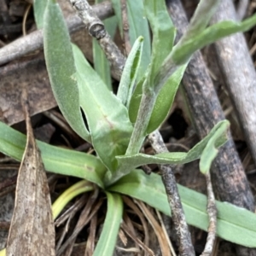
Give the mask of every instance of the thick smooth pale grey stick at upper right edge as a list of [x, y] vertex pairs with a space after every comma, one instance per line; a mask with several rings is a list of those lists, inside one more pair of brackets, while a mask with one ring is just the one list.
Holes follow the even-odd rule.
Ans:
[[[220, 3], [212, 23], [222, 20], [237, 20], [231, 0]], [[236, 33], [216, 42], [213, 49], [256, 164], [256, 72], [247, 42], [242, 33]]]

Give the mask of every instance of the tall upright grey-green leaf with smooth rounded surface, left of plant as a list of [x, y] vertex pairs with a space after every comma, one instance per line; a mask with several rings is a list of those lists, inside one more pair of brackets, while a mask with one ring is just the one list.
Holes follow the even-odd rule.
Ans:
[[44, 55], [49, 81], [61, 113], [79, 136], [90, 142], [79, 104], [79, 88], [72, 78], [76, 72], [73, 50], [61, 9], [49, 0], [44, 14]]

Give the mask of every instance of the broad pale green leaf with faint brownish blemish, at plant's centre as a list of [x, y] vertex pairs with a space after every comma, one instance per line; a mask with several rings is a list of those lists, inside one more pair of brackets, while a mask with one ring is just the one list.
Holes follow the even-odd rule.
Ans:
[[80, 104], [88, 121], [92, 144], [111, 172], [117, 168], [115, 156], [125, 154], [132, 125], [128, 111], [90, 67], [78, 47], [73, 46], [79, 83]]

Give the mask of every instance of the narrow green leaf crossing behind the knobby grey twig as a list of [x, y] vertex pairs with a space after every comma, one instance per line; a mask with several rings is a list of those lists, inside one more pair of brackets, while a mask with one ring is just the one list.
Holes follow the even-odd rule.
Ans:
[[[102, 3], [102, 0], [96, 0], [95, 3]], [[103, 23], [110, 37], [113, 38], [117, 28], [116, 16], [113, 16], [104, 20]], [[92, 39], [92, 49], [93, 49], [94, 69], [96, 70], [96, 73], [99, 74], [102, 81], [108, 86], [108, 89], [112, 90], [110, 66], [109, 66], [107, 57], [103, 52], [102, 48], [99, 46], [96, 38]]]

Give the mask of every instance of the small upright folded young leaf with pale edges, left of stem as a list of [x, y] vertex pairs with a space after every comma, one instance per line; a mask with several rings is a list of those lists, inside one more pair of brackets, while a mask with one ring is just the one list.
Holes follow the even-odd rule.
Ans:
[[125, 62], [125, 68], [119, 83], [117, 96], [128, 108], [131, 101], [131, 94], [134, 90], [137, 79], [138, 68], [141, 63], [143, 50], [143, 38], [139, 37], [132, 46], [131, 52]]

